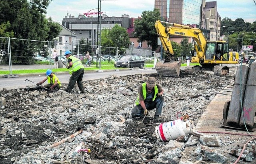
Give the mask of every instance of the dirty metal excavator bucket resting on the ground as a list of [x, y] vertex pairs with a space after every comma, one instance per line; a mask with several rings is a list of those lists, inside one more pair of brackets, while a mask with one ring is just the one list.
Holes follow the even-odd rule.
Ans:
[[156, 63], [156, 71], [161, 76], [180, 76], [181, 61], [160, 61]]

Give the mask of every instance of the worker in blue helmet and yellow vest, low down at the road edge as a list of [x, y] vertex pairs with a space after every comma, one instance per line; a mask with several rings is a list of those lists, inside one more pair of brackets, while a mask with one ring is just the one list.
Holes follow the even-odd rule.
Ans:
[[36, 85], [42, 85], [46, 80], [48, 80], [48, 84], [44, 85], [47, 89], [50, 89], [51, 91], [56, 90], [58, 91], [60, 89], [60, 81], [58, 77], [52, 73], [52, 70], [48, 69], [46, 71], [46, 78], [37, 83]]

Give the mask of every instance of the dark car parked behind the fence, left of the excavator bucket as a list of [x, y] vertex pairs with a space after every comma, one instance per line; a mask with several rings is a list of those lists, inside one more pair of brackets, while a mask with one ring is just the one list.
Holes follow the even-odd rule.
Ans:
[[126, 55], [123, 56], [121, 59], [115, 62], [114, 66], [115, 67], [125, 67], [125, 68], [134, 68], [134, 67], [139, 67], [143, 68], [145, 65], [145, 60], [143, 59], [142, 56], [139, 55]]

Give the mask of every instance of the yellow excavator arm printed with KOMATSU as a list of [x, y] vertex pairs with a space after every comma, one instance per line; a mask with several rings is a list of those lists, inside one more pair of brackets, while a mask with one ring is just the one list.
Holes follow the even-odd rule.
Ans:
[[[170, 26], [165, 27], [162, 23], [168, 24]], [[206, 38], [204, 37], [202, 31], [198, 28], [192, 28], [190, 26], [184, 26], [180, 24], [174, 24], [169, 22], [163, 22], [157, 20], [155, 23], [156, 32], [159, 39], [162, 42], [162, 46], [168, 55], [168, 59], [174, 59], [174, 51], [172, 49], [172, 44], [170, 36], [182, 36], [190, 37], [196, 41], [197, 45], [200, 47], [201, 51], [199, 52], [197, 47], [196, 52], [200, 60], [204, 59], [204, 52], [206, 51]]]

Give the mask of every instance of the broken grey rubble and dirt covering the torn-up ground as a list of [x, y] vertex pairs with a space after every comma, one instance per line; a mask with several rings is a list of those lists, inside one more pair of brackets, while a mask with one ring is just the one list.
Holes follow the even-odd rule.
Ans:
[[[130, 113], [138, 86], [150, 76], [164, 89], [162, 120], [154, 120], [153, 110], [142, 123]], [[4, 89], [0, 91], [0, 163], [227, 163], [229, 158], [211, 148], [234, 141], [196, 132], [162, 142], [155, 127], [176, 120], [178, 111], [186, 112], [196, 124], [214, 96], [233, 82], [234, 77], [181, 71], [179, 78], [136, 74], [84, 81], [86, 93], [78, 87], [72, 93]], [[180, 161], [184, 148], [191, 145], [198, 145], [191, 153], [194, 158]]]

